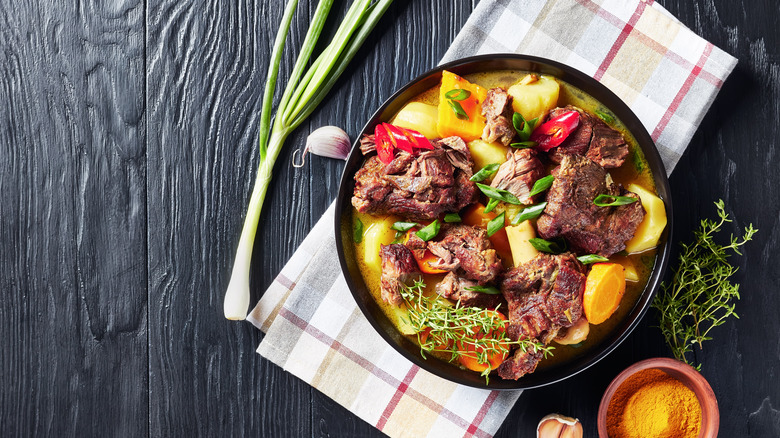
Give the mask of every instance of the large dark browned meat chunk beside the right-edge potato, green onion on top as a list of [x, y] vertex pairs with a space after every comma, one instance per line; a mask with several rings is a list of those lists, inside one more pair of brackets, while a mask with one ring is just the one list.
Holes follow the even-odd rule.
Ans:
[[563, 236], [581, 254], [609, 257], [626, 248], [645, 216], [642, 202], [619, 207], [593, 204], [598, 195], [638, 196], [612, 182], [604, 168], [579, 155], [567, 155], [553, 173], [547, 207], [536, 223], [545, 239]]

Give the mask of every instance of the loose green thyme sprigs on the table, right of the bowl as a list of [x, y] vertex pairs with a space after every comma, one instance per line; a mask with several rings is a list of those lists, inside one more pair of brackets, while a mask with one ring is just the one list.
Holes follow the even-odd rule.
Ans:
[[693, 345], [701, 349], [704, 341], [712, 339], [710, 330], [723, 324], [729, 316], [739, 318], [733, 302], [739, 299], [739, 284], [729, 281], [737, 268], [729, 264], [728, 258], [730, 252], [742, 255], [739, 248], [758, 231], [750, 224], [741, 240], [732, 234], [728, 245], [716, 243], [715, 235], [723, 224], [732, 220], [723, 200], [715, 206], [719, 220], [702, 220], [694, 233], [695, 241], [681, 244], [680, 263], [672, 282], [664, 282], [662, 293], [653, 301], [653, 307], [660, 313], [659, 328], [674, 357], [688, 364], [685, 355], [693, 351]]

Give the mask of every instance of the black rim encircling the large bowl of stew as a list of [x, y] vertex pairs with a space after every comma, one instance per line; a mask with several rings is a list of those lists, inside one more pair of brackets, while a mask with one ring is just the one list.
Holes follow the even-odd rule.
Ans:
[[[531, 66], [531, 68], [521, 69], [515, 64], [518, 65], [527, 64]], [[499, 68], [499, 67], [504, 67], [504, 68]], [[658, 251], [655, 259], [655, 264], [653, 266], [647, 284], [642, 290], [639, 299], [634, 304], [633, 308], [629, 311], [628, 315], [625, 317], [625, 323], [623, 323], [622, 326], [618, 326], [618, 328], [614, 330], [615, 332], [619, 332], [619, 333], [612, 333], [611, 335], [606, 336], [604, 339], [601, 340], [602, 345], [594, 347], [588, 353], [575, 359], [571, 363], [563, 364], [561, 366], [556, 366], [553, 369], [545, 370], [543, 373], [539, 373], [539, 374], [532, 373], [518, 380], [504, 380], [500, 378], [490, 379], [490, 382], [486, 385], [484, 378], [480, 377], [478, 373], [461, 370], [452, 364], [447, 364], [447, 367], [450, 368], [452, 371], [440, 372], [440, 367], [432, 365], [432, 362], [438, 361], [437, 359], [430, 359], [430, 360], [423, 359], [420, 356], [419, 347], [416, 353], [412, 353], [411, 351], [402, 348], [400, 342], [403, 341], [398, 341], [394, 339], [390, 333], [388, 333], [381, 327], [380, 322], [373, 316], [375, 312], [372, 312], [372, 310], [375, 309], [370, 308], [370, 306], [372, 305], [378, 306], [378, 304], [373, 302], [373, 298], [371, 298], [371, 303], [367, 302], [367, 300], [365, 299], [362, 299], [363, 297], [361, 297], [361, 295], [358, 292], [358, 287], [355, 283], [355, 280], [350, 275], [350, 267], [347, 262], [347, 258], [345, 254], [344, 240], [346, 239], [346, 235], [343, 232], [344, 223], [342, 222], [342, 217], [345, 210], [352, 207], [351, 196], [354, 187], [353, 176], [354, 173], [357, 171], [357, 168], [359, 168], [359, 165], [357, 168], [355, 168], [356, 165], [355, 163], [358, 161], [362, 163], [363, 160], [359, 148], [360, 138], [366, 132], [369, 132], [369, 129], [373, 129], [373, 127], [379, 121], [388, 120], [389, 116], [394, 114], [398, 109], [400, 109], [400, 105], [405, 104], [406, 101], [412, 96], [407, 96], [406, 99], [404, 100], [400, 100], [399, 98], [409, 93], [409, 91], [414, 89], [415, 86], [424, 84], [426, 80], [430, 81], [432, 78], [434, 79], [439, 78], [443, 70], [452, 71], [456, 74], [461, 74], [461, 73], [470, 74], [479, 71], [491, 71], [491, 70], [502, 70], [502, 69], [538, 71], [540, 73], [552, 74], [556, 78], [562, 79], [565, 82], [568, 82], [582, 89], [589, 95], [596, 98], [596, 100], [598, 100], [605, 107], [607, 107], [613, 114], [618, 116], [619, 120], [629, 129], [631, 134], [636, 139], [637, 144], [642, 149], [642, 152], [645, 156], [645, 160], [647, 161], [648, 166], [650, 167], [651, 173], [653, 175], [653, 180], [656, 184], [656, 192], [658, 193], [659, 197], [663, 200], [666, 207], [667, 226], [662, 235], [662, 239], [664, 239], [664, 243], [663, 245], [657, 248]], [[413, 95], [416, 94], [418, 93], [415, 92]], [[647, 132], [645, 127], [642, 125], [642, 123], [639, 121], [639, 118], [636, 116], [636, 114], [634, 114], [634, 112], [628, 107], [628, 105], [626, 105], [619, 97], [617, 97], [617, 95], [615, 95], [612, 91], [610, 91], [605, 85], [596, 81], [591, 76], [571, 66], [567, 66], [557, 61], [553, 61], [550, 59], [541, 58], [537, 56], [520, 55], [514, 53], [503, 53], [503, 54], [477, 55], [472, 57], [461, 58], [445, 64], [440, 64], [422, 73], [421, 75], [418, 75], [417, 77], [415, 77], [414, 79], [406, 83], [404, 86], [396, 90], [390, 97], [388, 97], [382, 103], [382, 105], [379, 106], [379, 108], [368, 119], [368, 121], [363, 126], [360, 133], [358, 134], [358, 136], [355, 138], [355, 141], [352, 145], [352, 150], [349, 156], [347, 157], [346, 161], [347, 163], [342, 172], [342, 176], [339, 183], [339, 191], [336, 198], [334, 225], [335, 225], [336, 248], [339, 257], [339, 264], [341, 266], [342, 273], [344, 274], [347, 286], [349, 287], [350, 292], [352, 296], [355, 298], [355, 301], [357, 302], [358, 307], [360, 307], [360, 310], [363, 313], [363, 315], [366, 317], [366, 319], [368, 319], [371, 326], [374, 328], [374, 330], [376, 330], [379, 333], [379, 335], [384, 339], [385, 342], [390, 344], [397, 352], [399, 352], [406, 359], [410, 360], [413, 364], [443, 379], [449, 380], [454, 383], [463, 384], [463, 385], [467, 385], [475, 388], [481, 388], [481, 389], [496, 389], [496, 390], [531, 389], [531, 388], [537, 388], [537, 387], [560, 382], [562, 380], [570, 378], [590, 368], [591, 366], [601, 361], [604, 357], [609, 355], [609, 353], [611, 353], [613, 350], [615, 350], [615, 348], [617, 348], [637, 327], [637, 325], [642, 320], [642, 318], [647, 313], [647, 310], [650, 307], [650, 303], [652, 302], [652, 299], [654, 298], [660, 286], [663, 274], [666, 271], [666, 267], [669, 262], [669, 253], [671, 250], [671, 242], [672, 242], [672, 224], [673, 224], [671, 192], [669, 188], [668, 176], [666, 174], [663, 161], [661, 160], [661, 157], [658, 153], [658, 149], [655, 146], [652, 137]], [[351, 229], [351, 224], [349, 228]], [[347, 233], [347, 234], [351, 235], [351, 233]], [[370, 295], [370, 293], [368, 295]], [[383, 316], [380, 315], [378, 318], [382, 319]], [[386, 319], [386, 317], [384, 318]], [[394, 334], [396, 336], [399, 336], [397, 331]], [[464, 374], [464, 373], [468, 373], [468, 374]], [[470, 375], [476, 376], [477, 378], [475, 379], [473, 376]], [[542, 376], [544, 378], [540, 378], [539, 376]]]

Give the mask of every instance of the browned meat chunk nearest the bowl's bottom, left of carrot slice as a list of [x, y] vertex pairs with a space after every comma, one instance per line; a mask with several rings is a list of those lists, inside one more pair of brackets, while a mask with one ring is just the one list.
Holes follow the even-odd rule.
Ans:
[[[585, 279], [585, 267], [572, 253], [542, 253], [506, 272], [501, 292], [509, 307], [510, 339], [547, 344], [558, 330], [572, 326], [582, 316]], [[533, 372], [541, 357], [541, 352], [518, 349], [501, 364], [498, 374], [518, 379]]]

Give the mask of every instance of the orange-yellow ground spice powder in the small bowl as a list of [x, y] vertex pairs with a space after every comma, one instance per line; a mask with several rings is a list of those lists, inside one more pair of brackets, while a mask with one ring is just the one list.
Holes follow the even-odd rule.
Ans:
[[607, 408], [610, 438], [696, 438], [700, 429], [696, 395], [658, 369], [626, 379]]

